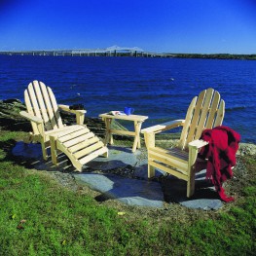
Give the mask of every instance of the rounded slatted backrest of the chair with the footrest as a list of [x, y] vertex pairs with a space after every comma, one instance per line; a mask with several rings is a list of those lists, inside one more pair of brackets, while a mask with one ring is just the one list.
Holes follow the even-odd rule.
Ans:
[[[30, 83], [24, 91], [24, 100], [27, 112], [41, 118], [44, 121], [45, 130], [63, 127], [55, 95], [44, 83], [39, 81]], [[32, 128], [35, 134], [39, 133], [35, 124], [32, 124]]]

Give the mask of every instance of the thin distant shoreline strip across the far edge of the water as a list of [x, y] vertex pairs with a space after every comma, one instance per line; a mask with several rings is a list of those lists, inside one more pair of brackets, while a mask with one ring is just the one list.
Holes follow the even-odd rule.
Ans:
[[256, 60], [255, 55], [232, 55], [232, 54], [155, 54], [146, 52], [73, 52], [73, 51], [2, 51], [0, 55], [53, 55], [53, 56], [129, 56], [129, 57], [170, 57], [170, 58], [204, 58], [204, 59], [246, 59]]

